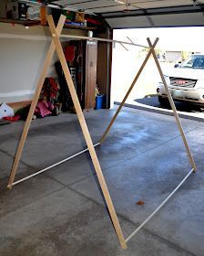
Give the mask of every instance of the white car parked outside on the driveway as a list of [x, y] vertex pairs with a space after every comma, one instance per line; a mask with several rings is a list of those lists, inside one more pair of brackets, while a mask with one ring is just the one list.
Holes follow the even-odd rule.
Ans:
[[[193, 54], [174, 69], [165, 74], [172, 98], [177, 101], [189, 101], [204, 104], [204, 54]], [[158, 101], [168, 104], [168, 96], [163, 82], [158, 83]]]

